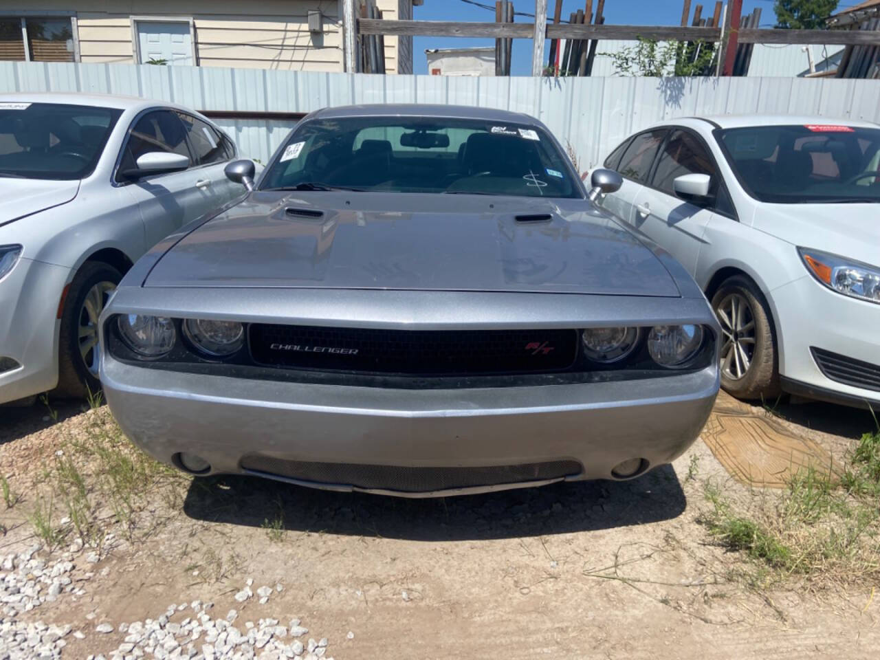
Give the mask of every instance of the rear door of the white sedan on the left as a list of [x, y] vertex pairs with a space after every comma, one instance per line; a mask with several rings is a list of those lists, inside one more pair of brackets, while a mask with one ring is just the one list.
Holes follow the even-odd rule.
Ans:
[[226, 178], [224, 167], [235, 158], [235, 147], [220, 130], [192, 114], [178, 113], [187, 129], [193, 152], [195, 187], [199, 188], [204, 212], [218, 209], [245, 192], [244, 187]]

